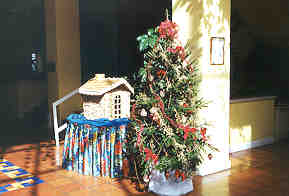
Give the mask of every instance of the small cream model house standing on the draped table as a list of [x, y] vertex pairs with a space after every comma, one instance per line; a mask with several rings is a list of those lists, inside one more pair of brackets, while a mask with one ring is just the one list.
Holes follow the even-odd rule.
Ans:
[[79, 88], [79, 93], [83, 114], [88, 120], [130, 117], [130, 95], [134, 89], [123, 78], [105, 78], [105, 74], [95, 74]]

